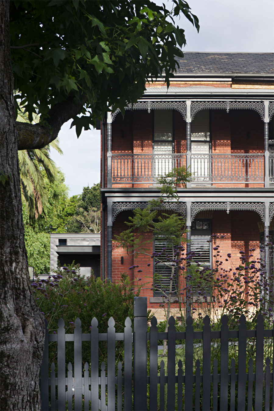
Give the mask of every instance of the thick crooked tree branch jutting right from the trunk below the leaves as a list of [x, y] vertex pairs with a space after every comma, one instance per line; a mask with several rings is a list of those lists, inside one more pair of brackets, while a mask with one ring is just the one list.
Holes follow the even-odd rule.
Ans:
[[18, 150], [43, 148], [58, 136], [62, 125], [75, 117], [86, 102], [82, 94], [78, 100], [70, 96], [62, 103], [57, 103], [48, 112], [47, 124], [28, 124], [16, 121]]

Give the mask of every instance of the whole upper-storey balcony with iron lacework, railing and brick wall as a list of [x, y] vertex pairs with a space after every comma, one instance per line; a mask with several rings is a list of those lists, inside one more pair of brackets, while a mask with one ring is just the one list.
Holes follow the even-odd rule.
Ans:
[[108, 187], [152, 187], [181, 166], [191, 172], [188, 188], [274, 185], [273, 103], [191, 101], [189, 117], [177, 111], [179, 103], [153, 102], [146, 110], [140, 102], [124, 117], [115, 114], [105, 141]]

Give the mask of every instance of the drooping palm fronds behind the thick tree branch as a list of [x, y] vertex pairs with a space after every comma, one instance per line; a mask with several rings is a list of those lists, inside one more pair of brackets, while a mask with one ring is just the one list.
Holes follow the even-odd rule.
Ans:
[[[32, 123], [39, 122], [39, 116], [35, 113], [33, 118]], [[28, 115], [18, 111], [17, 121], [29, 122]], [[44, 148], [18, 151], [21, 193], [30, 219], [37, 218], [48, 201], [42, 170], [45, 170], [49, 182], [54, 182], [57, 174], [55, 162], [50, 157], [51, 148], [63, 154], [58, 139]]]

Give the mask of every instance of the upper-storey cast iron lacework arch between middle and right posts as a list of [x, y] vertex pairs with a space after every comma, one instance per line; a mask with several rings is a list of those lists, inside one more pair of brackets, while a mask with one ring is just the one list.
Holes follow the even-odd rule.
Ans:
[[225, 109], [227, 113], [231, 109], [251, 109], [257, 111], [259, 113], [260, 118], [262, 121], [265, 119], [265, 105], [263, 102], [247, 102], [247, 101], [195, 101], [191, 102], [190, 106], [190, 113], [191, 113], [191, 120], [193, 120], [194, 116], [198, 111], [203, 109]]

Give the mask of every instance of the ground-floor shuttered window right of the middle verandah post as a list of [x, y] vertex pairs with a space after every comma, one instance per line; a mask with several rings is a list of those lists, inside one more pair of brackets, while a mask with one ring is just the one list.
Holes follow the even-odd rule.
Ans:
[[195, 252], [195, 261], [203, 267], [211, 267], [211, 220], [194, 219], [191, 224], [191, 251]]

